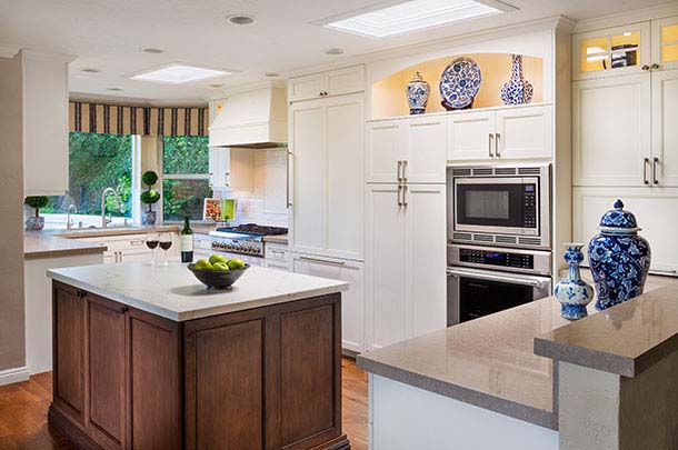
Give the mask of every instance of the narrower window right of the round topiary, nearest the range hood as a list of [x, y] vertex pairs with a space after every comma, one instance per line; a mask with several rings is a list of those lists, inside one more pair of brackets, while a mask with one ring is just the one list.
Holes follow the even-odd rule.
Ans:
[[201, 220], [205, 199], [212, 196], [208, 137], [163, 137], [161, 161], [163, 220]]

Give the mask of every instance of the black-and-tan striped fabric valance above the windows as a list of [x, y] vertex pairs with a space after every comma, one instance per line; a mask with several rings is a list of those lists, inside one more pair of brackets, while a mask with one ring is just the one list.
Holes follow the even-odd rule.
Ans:
[[207, 108], [123, 107], [69, 102], [69, 129], [90, 133], [207, 136]]

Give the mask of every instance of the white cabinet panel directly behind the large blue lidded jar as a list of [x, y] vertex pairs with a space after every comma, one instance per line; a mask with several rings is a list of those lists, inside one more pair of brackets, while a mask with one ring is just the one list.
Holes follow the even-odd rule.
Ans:
[[[598, 233], [598, 222], [617, 199], [634, 211], [639, 232], [650, 243], [651, 270], [678, 274], [678, 188], [575, 188], [572, 234], [576, 242], [588, 242]], [[658, 211], [661, 211], [658, 213]], [[588, 256], [585, 259], [588, 264]]]

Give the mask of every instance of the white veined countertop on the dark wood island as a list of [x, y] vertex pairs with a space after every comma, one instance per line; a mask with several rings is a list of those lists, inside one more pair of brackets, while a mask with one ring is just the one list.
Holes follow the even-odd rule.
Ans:
[[250, 267], [230, 290], [212, 291], [186, 268], [127, 262], [51, 269], [53, 280], [117, 302], [186, 321], [348, 290], [343, 281]]

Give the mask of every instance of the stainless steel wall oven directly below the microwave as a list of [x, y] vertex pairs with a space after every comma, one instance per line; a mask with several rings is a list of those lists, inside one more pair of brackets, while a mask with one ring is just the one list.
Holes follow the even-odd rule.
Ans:
[[550, 296], [550, 251], [448, 246], [448, 327]]

